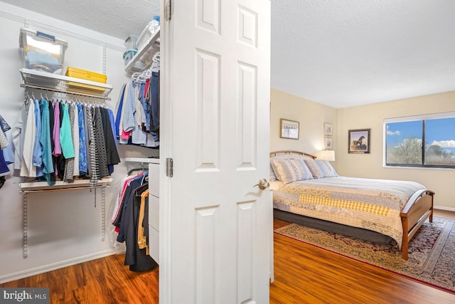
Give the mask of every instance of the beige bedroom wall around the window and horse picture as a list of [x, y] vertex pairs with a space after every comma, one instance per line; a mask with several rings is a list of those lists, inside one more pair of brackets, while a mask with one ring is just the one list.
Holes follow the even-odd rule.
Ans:
[[[436, 192], [435, 206], [455, 210], [455, 170], [385, 168], [383, 163], [383, 121], [385, 118], [455, 111], [455, 91], [393, 100], [338, 110], [336, 146], [337, 172], [348, 177], [407, 179]], [[348, 130], [371, 129], [370, 154], [348, 154]]]

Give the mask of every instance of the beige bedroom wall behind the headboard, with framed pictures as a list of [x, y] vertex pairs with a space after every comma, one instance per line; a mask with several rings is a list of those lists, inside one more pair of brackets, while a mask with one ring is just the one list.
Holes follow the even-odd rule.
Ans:
[[[294, 95], [272, 90], [270, 93], [270, 151], [296, 150], [316, 154], [324, 147], [324, 122], [337, 125], [337, 110], [335, 108], [314, 103]], [[295, 120], [300, 123], [299, 140], [280, 138], [281, 118]], [[334, 133], [333, 135], [336, 135]], [[337, 138], [333, 136], [333, 148], [337, 147]], [[336, 168], [336, 162], [332, 162]]]

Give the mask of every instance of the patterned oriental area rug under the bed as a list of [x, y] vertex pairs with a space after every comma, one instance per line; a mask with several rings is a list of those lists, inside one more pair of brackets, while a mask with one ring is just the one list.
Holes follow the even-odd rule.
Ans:
[[298, 224], [274, 232], [455, 294], [453, 219], [434, 216], [433, 223], [424, 223], [410, 241], [407, 261], [402, 259], [395, 241], [387, 246], [378, 245]]

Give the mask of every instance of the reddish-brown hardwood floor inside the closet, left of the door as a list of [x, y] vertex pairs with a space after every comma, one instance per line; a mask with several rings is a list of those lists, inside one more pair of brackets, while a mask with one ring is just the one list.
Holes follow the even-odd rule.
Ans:
[[123, 254], [107, 256], [0, 287], [49, 288], [50, 303], [158, 304], [159, 268], [134, 273], [123, 263]]

